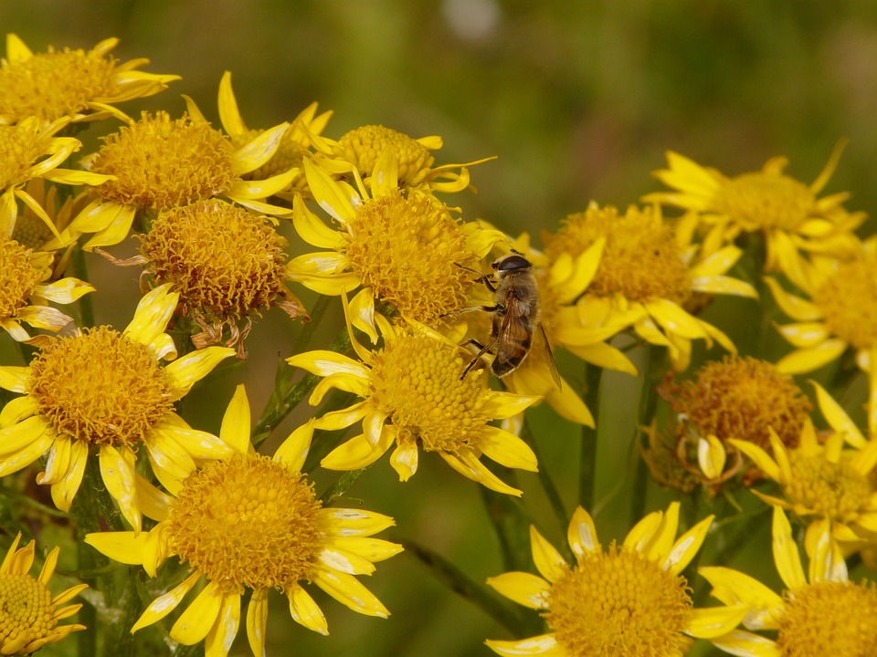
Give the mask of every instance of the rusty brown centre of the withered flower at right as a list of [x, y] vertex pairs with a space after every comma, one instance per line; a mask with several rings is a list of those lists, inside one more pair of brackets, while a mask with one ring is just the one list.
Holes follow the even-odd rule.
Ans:
[[792, 377], [766, 360], [725, 356], [697, 371], [693, 381], [665, 381], [662, 397], [684, 417], [681, 433], [714, 435], [723, 443], [745, 440], [763, 449], [770, 445], [769, 429], [788, 447], [798, 446], [801, 428], [812, 410], [807, 396]]

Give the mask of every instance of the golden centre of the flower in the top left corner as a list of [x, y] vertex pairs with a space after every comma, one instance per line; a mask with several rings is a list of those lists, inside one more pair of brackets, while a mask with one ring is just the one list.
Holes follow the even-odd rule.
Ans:
[[[0, 115], [36, 116], [44, 121], [75, 116], [93, 99], [112, 95], [115, 67], [110, 57], [51, 47], [25, 61], [0, 68]], [[2, 152], [2, 149], [0, 149]]]

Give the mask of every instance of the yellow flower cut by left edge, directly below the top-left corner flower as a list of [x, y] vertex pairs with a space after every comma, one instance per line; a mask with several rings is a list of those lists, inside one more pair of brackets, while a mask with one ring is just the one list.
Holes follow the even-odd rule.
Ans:
[[107, 175], [58, 168], [82, 146], [73, 137], [55, 136], [68, 124], [68, 118], [47, 124], [36, 117], [28, 117], [17, 125], [0, 124], [0, 232], [12, 235], [18, 216], [17, 199], [37, 214], [53, 235], [58, 234], [46, 210], [26, 192], [24, 186], [30, 180], [44, 178], [54, 183], [92, 185], [111, 180]]

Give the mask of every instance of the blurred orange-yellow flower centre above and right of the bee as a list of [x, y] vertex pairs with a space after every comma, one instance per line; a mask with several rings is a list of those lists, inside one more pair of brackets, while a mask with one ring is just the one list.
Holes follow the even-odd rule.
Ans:
[[601, 236], [606, 247], [589, 293], [631, 301], [660, 297], [679, 304], [691, 296], [692, 282], [671, 226], [653, 207], [630, 206], [618, 214], [612, 206], [592, 204], [584, 213], [568, 215], [555, 235], [544, 236], [545, 254], [549, 259], [562, 253], [575, 257]]

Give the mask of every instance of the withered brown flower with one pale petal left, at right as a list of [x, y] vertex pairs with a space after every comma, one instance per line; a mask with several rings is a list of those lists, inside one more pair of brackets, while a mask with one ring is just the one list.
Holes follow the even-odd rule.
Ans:
[[[773, 363], [750, 357], [713, 360], [697, 370], [692, 381], [668, 379], [658, 392], [676, 413], [677, 454], [682, 464], [713, 492], [743, 465], [738, 458], [725, 467], [730, 439], [766, 448], [773, 429], [783, 444], [794, 448], [812, 410], [789, 375]], [[731, 451], [739, 454], [734, 448]], [[693, 454], [696, 465], [689, 460]]]

